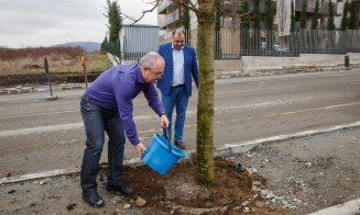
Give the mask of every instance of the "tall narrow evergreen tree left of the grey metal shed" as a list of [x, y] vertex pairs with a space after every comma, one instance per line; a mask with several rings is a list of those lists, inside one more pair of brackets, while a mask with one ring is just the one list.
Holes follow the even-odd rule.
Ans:
[[106, 18], [109, 19], [109, 43], [114, 43], [119, 38], [119, 32], [122, 29], [122, 18], [118, 1], [107, 0]]

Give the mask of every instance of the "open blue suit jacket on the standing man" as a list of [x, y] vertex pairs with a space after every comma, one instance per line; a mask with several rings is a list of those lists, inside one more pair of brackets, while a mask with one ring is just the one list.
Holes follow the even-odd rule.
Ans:
[[[157, 53], [165, 60], [165, 70], [161, 79], [157, 80], [157, 88], [165, 95], [170, 93], [174, 77], [173, 48], [172, 43], [159, 46]], [[196, 53], [192, 46], [184, 45], [184, 82], [186, 86], [188, 97], [192, 95], [192, 76], [194, 78], [196, 88], [198, 88], [198, 69], [196, 61]]]

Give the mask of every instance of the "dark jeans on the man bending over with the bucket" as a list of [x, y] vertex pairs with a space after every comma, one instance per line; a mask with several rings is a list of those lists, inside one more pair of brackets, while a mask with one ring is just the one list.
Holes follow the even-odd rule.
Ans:
[[97, 192], [96, 178], [105, 142], [105, 132], [109, 136], [108, 161], [109, 185], [118, 185], [123, 181], [123, 150], [126, 136], [118, 110], [106, 110], [94, 104], [86, 95], [81, 98], [81, 116], [86, 133], [80, 183], [83, 192]]

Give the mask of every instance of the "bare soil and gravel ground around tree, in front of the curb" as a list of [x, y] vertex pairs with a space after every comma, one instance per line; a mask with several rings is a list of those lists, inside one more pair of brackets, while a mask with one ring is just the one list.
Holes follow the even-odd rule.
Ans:
[[360, 127], [263, 144], [217, 158], [217, 180], [209, 188], [194, 183], [188, 162], [165, 177], [146, 166], [126, 167], [126, 181], [137, 191], [132, 197], [105, 191], [102, 165], [102, 208], [81, 200], [79, 177], [73, 174], [2, 184], [0, 214], [307, 214], [360, 197], [359, 150]]

